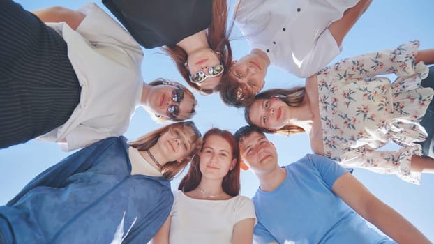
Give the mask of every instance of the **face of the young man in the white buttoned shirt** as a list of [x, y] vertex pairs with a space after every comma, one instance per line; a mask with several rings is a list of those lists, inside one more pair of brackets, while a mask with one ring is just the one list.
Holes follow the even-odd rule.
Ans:
[[230, 78], [246, 84], [250, 93], [258, 93], [264, 88], [267, 75], [267, 63], [257, 54], [247, 54], [239, 61], [234, 61]]

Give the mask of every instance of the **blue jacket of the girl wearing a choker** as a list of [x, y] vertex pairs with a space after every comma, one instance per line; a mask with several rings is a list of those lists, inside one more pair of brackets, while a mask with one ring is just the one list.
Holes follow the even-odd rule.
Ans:
[[81, 244], [110, 243], [121, 227], [123, 243], [147, 243], [172, 208], [170, 182], [130, 171], [124, 137], [83, 148], [1, 206], [9, 228], [3, 223], [0, 231], [14, 243]]

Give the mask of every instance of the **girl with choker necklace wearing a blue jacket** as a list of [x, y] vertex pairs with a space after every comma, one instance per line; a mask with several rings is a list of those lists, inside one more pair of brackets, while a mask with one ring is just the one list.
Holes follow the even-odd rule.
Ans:
[[77, 151], [0, 206], [0, 243], [147, 243], [170, 213], [170, 180], [201, 142], [188, 121]]

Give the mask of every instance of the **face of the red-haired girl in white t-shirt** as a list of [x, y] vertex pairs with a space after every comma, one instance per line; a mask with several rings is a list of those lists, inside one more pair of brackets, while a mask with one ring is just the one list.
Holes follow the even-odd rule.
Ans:
[[202, 177], [223, 178], [234, 169], [237, 162], [232, 155], [232, 147], [219, 135], [210, 135], [200, 152], [200, 171]]

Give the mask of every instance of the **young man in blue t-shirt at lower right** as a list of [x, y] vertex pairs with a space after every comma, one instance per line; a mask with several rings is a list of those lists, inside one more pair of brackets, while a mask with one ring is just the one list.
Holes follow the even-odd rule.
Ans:
[[245, 126], [235, 137], [241, 162], [260, 181], [253, 197], [256, 243], [431, 243], [336, 162], [310, 154], [280, 167], [260, 129]]

